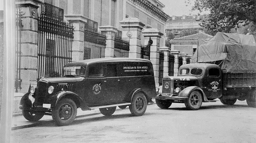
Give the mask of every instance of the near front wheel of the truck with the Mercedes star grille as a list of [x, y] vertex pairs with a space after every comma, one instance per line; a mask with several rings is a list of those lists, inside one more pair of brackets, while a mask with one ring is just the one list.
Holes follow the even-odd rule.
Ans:
[[202, 94], [198, 91], [192, 91], [189, 98], [185, 100], [185, 106], [189, 110], [197, 110], [202, 105]]

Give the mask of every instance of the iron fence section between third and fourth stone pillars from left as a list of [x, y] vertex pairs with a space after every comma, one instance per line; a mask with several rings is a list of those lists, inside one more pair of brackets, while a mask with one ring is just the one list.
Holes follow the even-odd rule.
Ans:
[[122, 38], [122, 31], [117, 31], [114, 40], [114, 57], [128, 58], [130, 50], [130, 42], [126, 38]]

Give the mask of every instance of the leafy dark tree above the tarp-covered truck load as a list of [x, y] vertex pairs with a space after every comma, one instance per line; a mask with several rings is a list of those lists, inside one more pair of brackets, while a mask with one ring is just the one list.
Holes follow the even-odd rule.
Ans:
[[185, 0], [185, 3], [192, 1], [195, 3], [191, 10], [210, 12], [208, 19], [200, 23], [210, 33], [230, 32], [240, 23], [256, 23], [256, 0]]

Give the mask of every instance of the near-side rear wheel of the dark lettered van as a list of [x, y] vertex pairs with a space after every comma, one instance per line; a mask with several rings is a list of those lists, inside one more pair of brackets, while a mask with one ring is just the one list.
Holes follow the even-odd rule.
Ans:
[[147, 109], [147, 99], [145, 95], [141, 92], [136, 93], [131, 99], [129, 109], [133, 116], [142, 116]]

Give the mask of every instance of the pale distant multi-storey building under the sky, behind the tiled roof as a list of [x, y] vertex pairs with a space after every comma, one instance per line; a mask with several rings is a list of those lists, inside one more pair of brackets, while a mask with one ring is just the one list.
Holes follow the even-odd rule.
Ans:
[[182, 30], [186, 29], [195, 29], [199, 32], [203, 32], [203, 27], [199, 26], [200, 20], [205, 19], [207, 17], [206, 14], [203, 15], [182, 15], [182, 16], [175, 16], [173, 15], [171, 19], [166, 21], [165, 25], [165, 32], [168, 33], [169, 31], [173, 33], [180, 33]]

